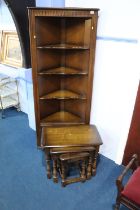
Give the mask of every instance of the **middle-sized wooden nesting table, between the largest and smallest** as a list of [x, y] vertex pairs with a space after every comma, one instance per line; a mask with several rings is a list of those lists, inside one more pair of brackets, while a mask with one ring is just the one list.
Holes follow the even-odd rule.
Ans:
[[87, 173], [86, 178], [90, 179], [92, 176], [92, 165], [93, 165], [93, 159], [95, 156], [95, 148], [92, 147], [58, 147], [58, 148], [50, 148], [50, 156], [53, 161], [53, 181], [58, 182], [58, 173], [57, 171], [60, 169], [60, 156], [63, 154], [67, 155], [79, 155], [79, 153], [89, 153], [89, 159], [88, 159], [88, 166], [87, 166]]

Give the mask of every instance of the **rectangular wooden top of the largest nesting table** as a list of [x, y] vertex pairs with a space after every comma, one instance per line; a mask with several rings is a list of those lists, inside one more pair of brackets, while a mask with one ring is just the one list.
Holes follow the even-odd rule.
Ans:
[[101, 137], [95, 125], [42, 128], [43, 147], [98, 146]]

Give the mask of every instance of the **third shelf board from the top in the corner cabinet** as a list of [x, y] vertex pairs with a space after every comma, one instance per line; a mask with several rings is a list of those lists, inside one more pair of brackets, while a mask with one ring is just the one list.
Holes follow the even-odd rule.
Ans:
[[41, 100], [44, 99], [86, 99], [85, 95], [79, 95], [75, 92], [69, 91], [69, 90], [57, 90], [54, 92], [51, 92], [47, 95], [44, 95], [40, 97]]

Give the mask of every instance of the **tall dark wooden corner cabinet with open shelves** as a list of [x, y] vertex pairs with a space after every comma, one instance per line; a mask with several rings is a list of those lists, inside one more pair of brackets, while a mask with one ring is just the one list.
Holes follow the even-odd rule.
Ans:
[[38, 146], [44, 126], [89, 124], [98, 10], [28, 8]]

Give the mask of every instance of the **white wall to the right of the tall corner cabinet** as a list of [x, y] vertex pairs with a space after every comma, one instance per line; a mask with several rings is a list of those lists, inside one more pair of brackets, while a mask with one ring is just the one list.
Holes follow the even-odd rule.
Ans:
[[65, 5], [100, 8], [91, 123], [103, 140], [100, 152], [120, 164], [140, 76], [140, 1], [66, 0]]

